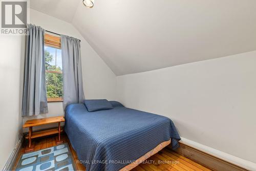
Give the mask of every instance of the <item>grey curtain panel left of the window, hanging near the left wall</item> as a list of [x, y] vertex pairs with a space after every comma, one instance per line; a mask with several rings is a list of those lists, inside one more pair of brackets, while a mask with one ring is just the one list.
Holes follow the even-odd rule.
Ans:
[[28, 25], [22, 116], [48, 113], [45, 76], [45, 30]]

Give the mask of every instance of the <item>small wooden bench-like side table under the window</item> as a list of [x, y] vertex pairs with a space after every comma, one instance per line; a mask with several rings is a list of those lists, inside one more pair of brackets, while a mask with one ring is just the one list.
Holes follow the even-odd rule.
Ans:
[[[63, 116], [27, 120], [26, 123], [23, 125], [23, 127], [29, 127], [29, 134], [25, 137], [26, 139], [29, 139], [29, 148], [26, 148], [25, 152], [34, 151], [34, 148], [31, 147], [33, 138], [58, 134], [58, 139], [56, 138], [56, 144], [63, 143], [63, 141], [60, 140], [60, 133], [63, 131], [60, 129], [60, 122], [65, 122], [65, 119]], [[58, 123], [58, 127], [54, 128], [54, 129], [33, 132], [33, 126], [45, 125], [45, 124], [50, 124], [50, 123]]]

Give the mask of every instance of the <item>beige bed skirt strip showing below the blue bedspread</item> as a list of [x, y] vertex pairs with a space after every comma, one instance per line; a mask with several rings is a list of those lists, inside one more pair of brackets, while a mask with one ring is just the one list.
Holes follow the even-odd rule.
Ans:
[[129, 171], [131, 169], [133, 169], [134, 167], [136, 167], [137, 165], [139, 165], [141, 162], [145, 161], [146, 159], [150, 158], [151, 156], [155, 155], [156, 153], [158, 153], [159, 151], [161, 151], [161, 149], [163, 149], [164, 147], [166, 147], [167, 145], [170, 144], [170, 139], [168, 141], [164, 141], [160, 144], [158, 144], [155, 148], [153, 148], [151, 151], [147, 152], [145, 155], [141, 156], [139, 159], [137, 159], [135, 162], [123, 167], [122, 169], [120, 169], [120, 171]]

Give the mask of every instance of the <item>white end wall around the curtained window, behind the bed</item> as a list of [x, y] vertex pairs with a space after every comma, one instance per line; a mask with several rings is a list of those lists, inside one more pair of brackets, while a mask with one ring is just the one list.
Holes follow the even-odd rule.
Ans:
[[[30, 23], [59, 34], [76, 37], [81, 40], [81, 60], [83, 75], [84, 96], [87, 99], [105, 98], [115, 100], [116, 75], [110, 70], [99, 55], [91, 48], [88, 42], [73, 27], [73, 25], [64, 22], [50, 15], [30, 9]], [[48, 103], [48, 114], [35, 117], [24, 117], [27, 119], [45, 118], [63, 115], [62, 102]], [[52, 126], [56, 126], [53, 124]], [[34, 130], [46, 128], [49, 126], [38, 126]], [[25, 129], [25, 132], [27, 129]]]

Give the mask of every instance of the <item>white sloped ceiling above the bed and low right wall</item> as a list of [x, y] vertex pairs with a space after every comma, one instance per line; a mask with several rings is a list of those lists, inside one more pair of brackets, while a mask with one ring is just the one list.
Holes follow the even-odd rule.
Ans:
[[72, 23], [116, 75], [256, 50], [255, 0], [95, 0], [92, 9], [31, 0], [31, 7]]

